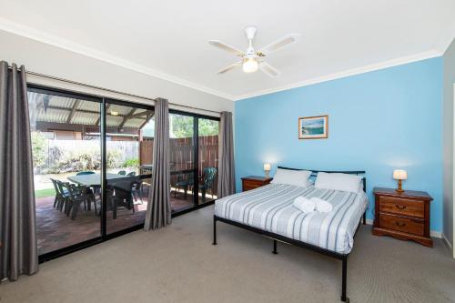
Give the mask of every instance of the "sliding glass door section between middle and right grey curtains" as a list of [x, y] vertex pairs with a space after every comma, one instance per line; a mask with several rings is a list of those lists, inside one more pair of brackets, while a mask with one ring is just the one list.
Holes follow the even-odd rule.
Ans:
[[169, 115], [171, 207], [178, 212], [217, 198], [216, 117], [177, 111]]

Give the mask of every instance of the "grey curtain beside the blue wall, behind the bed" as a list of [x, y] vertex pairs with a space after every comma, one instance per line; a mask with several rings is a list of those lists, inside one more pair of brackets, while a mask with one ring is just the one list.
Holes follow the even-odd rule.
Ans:
[[222, 112], [218, 138], [218, 198], [236, 193], [233, 136], [232, 113]]

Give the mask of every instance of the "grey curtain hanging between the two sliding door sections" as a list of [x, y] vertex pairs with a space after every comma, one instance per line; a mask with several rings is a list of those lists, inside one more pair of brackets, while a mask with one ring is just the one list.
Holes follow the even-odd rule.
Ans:
[[148, 194], [145, 230], [171, 223], [169, 170], [169, 106], [166, 99], [155, 103], [155, 139], [153, 142], [152, 184]]

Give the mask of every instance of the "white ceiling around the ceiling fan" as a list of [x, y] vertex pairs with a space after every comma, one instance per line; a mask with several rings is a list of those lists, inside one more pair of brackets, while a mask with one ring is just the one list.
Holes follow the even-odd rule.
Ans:
[[[455, 35], [453, 0], [121, 1], [0, 0], [0, 28], [230, 99], [440, 56]], [[281, 76], [217, 70], [242, 50], [289, 33], [270, 54]]]

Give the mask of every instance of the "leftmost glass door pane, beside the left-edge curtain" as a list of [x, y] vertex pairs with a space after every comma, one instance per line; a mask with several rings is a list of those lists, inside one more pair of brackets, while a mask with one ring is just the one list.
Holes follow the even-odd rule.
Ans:
[[44, 255], [101, 237], [101, 102], [29, 89], [28, 103], [38, 254]]

